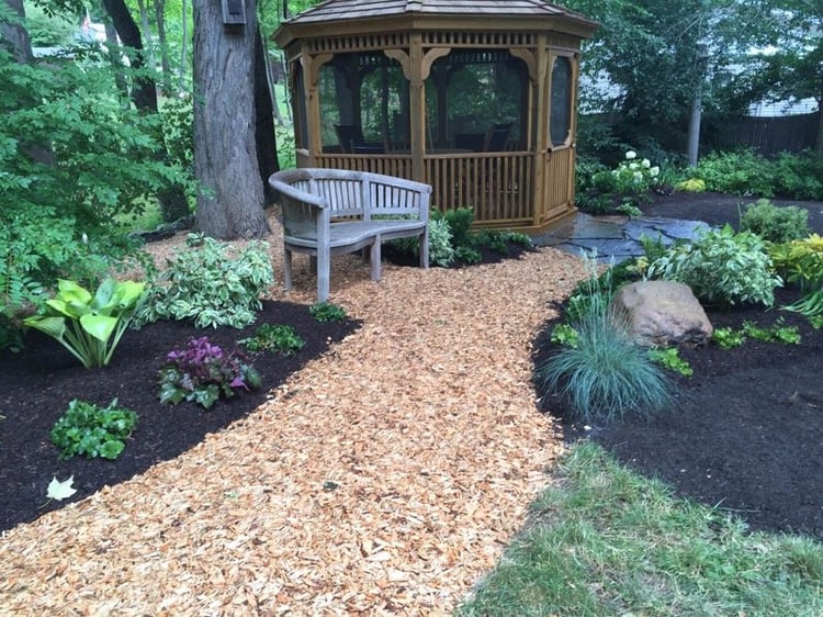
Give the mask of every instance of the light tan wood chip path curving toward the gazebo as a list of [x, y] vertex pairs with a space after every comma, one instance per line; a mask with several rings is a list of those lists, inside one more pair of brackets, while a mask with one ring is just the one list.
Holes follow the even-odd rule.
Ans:
[[[295, 290], [275, 296], [311, 304], [295, 267]], [[464, 270], [386, 266], [380, 283], [368, 270], [335, 259], [331, 301], [363, 327], [269, 403], [0, 538], [0, 615], [453, 612], [561, 452], [530, 345], [583, 268], [546, 248]]]

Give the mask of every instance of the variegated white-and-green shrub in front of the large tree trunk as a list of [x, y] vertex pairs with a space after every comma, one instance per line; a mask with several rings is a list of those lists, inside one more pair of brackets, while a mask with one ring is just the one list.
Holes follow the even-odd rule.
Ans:
[[262, 307], [260, 298], [274, 282], [269, 245], [252, 240], [238, 250], [189, 234], [185, 246], [150, 280], [139, 323], [193, 319], [200, 328], [251, 324]]

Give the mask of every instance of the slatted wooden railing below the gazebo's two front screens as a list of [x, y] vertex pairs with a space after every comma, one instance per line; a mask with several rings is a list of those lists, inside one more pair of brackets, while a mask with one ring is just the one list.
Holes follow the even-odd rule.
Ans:
[[[432, 207], [472, 207], [477, 223], [494, 222], [495, 227], [532, 224], [533, 154], [427, 154], [424, 161], [426, 182], [432, 186]], [[323, 154], [317, 165], [412, 178], [408, 154]]]

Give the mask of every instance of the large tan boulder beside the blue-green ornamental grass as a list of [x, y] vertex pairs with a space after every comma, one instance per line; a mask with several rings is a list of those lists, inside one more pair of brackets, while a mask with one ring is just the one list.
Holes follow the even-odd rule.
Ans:
[[704, 345], [713, 332], [691, 288], [673, 281], [640, 281], [618, 290], [611, 301], [625, 316], [629, 333], [644, 346]]

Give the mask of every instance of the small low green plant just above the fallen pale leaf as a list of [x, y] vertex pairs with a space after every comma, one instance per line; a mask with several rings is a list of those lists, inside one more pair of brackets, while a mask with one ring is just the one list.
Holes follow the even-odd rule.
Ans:
[[60, 459], [81, 456], [114, 460], [125, 449], [125, 440], [136, 425], [137, 414], [119, 407], [116, 399], [102, 408], [75, 399], [49, 436], [60, 449]]

